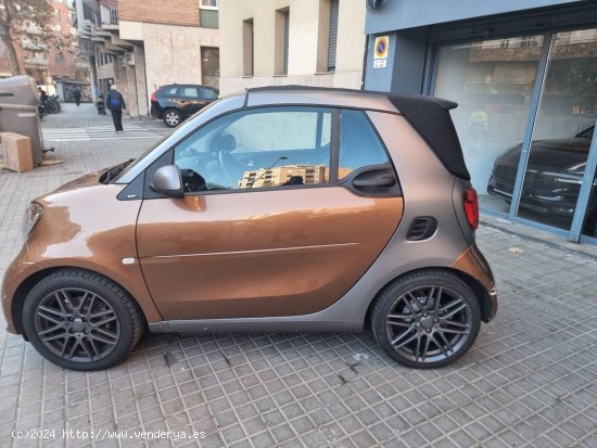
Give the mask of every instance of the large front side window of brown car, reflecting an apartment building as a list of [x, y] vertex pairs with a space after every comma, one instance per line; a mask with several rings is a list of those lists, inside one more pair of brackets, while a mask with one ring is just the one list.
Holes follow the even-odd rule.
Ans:
[[261, 107], [228, 114], [174, 150], [188, 193], [325, 184], [331, 110]]

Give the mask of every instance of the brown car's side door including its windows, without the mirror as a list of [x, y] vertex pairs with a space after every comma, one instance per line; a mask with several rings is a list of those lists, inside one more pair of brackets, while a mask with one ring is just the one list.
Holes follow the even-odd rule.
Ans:
[[143, 276], [166, 320], [325, 309], [376, 260], [403, 213], [394, 169], [358, 111], [236, 112], [158, 162], [169, 163], [185, 197], [145, 199], [137, 225]]

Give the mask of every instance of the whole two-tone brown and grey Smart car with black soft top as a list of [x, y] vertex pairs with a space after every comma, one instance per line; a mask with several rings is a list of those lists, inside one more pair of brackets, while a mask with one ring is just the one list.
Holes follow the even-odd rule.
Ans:
[[455, 103], [250, 89], [134, 162], [29, 204], [5, 272], [11, 333], [105, 369], [152, 332], [370, 328], [433, 368], [496, 312]]

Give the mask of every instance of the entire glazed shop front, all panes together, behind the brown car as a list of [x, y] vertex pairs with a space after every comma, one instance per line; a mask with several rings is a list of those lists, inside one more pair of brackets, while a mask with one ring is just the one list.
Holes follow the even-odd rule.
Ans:
[[459, 103], [453, 119], [481, 207], [596, 238], [595, 184], [581, 197], [583, 222], [572, 225], [597, 119], [597, 29], [549, 37], [548, 52], [543, 35], [441, 46], [433, 94]]

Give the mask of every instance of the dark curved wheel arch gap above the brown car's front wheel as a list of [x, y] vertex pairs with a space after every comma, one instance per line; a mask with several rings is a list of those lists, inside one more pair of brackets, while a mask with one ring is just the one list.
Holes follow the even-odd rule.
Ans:
[[11, 317], [12, 317], [12, 321], [16, 330], [16, 333], [21, 334], [25, 338], [25, 341], [28, 341], [23, 327], [23, 306], [25, 305], [25, 298], [27, 298], [27, 295], [37, 283], [42, 281], [45, 278], [51, 276], [52, 273], [61, 270], [90, 272], [96, 276], [100, 276], [110, 280], [111, 282], [116, 284], [118, 287], [120, 287], [130, 297], [131, 302], [135, 304], [135, 307], [137, 308], [137, 311], [139, 312], [139, 317], [142, 319], [142, 325], [143, 327], [147, 325], [148, 320], [143, 311], [143, 308], [139, 305], [139, 302], [130, 293], [130, 291], [127, 287], [125, 287], [122, 283], [118, 283], [117, 281], [92, 269], [80, 268], [75, 266], [53, 266], [53, 267], [41, 269], [39, 271], [31, 273], [29, 277], [27, 277], [25, 280], [21, 282], [21, 284], [14, 292], [14, 295], [12, 298], [12, 306], [11, 306]]

